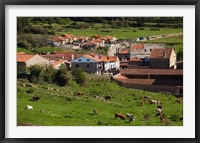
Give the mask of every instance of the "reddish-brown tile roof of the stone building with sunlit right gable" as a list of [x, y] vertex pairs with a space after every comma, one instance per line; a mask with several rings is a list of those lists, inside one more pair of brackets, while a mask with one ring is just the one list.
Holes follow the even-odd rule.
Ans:
[[172, 48], [153, 49], [149, 58], [170, 58]]

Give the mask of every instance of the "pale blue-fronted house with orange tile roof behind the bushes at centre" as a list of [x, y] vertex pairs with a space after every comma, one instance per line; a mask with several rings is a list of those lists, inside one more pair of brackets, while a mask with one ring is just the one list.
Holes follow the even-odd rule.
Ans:
[[95, 73], [101, 75], [103, 73], [103, 60], [94, 58], [90, 55], [71, 61], [71, 69], [81, 68], [87, 73]]

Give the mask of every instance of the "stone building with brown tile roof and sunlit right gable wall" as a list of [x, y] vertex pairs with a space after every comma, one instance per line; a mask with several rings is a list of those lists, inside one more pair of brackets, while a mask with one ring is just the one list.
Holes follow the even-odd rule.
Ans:
[[176, 69], [176, 53], [173, 48], [154, 49], [149, 57], [152, 69]]

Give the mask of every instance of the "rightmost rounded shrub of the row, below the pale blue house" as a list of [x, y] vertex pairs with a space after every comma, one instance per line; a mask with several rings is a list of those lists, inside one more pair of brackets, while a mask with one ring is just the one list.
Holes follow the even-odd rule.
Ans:
[[82, 69], [80, 68], [76, 68], [72, 71], [72, 76], [74, 78], [74, 80], [80, 84], [80, 85], [85, 85], [86, 82], [86, 75], [83, 72]]

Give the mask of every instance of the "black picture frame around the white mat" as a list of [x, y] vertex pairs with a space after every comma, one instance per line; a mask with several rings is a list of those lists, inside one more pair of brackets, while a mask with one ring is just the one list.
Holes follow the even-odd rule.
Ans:
[[[78, 138], [78, 139], [14, 139], [5, 138], [5, 7], [6, 5], [194, 5], [195, 6], [195, 138]], [[0, 141], [2, 143], [57, 143], [57, 142], [96, 142], [96, 143], [197, 143], [200, 142], [200, 98], [199, 98], [199, 60], [200, 60], [200, 0], [1, 0], [0, 3]]]

